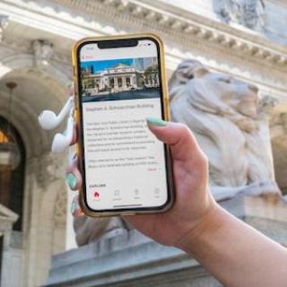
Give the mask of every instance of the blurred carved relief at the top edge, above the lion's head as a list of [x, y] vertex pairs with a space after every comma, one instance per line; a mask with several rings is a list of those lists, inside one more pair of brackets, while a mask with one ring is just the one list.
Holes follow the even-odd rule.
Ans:
[[213, 0], [213, 6], [227, 24], [236, 22], [254, 30], [265, 26], [264, 0]]

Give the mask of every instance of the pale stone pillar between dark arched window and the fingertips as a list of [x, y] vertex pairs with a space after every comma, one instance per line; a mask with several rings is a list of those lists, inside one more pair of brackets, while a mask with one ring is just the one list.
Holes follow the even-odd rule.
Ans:
[[60, 248], [64, 251], [65, 248], [65, 230], [64, 233], [57, 232], [55, 221], [59, 212], [57, 196], [66, 193], [65, 161], [65, 154], [45, 152], [34, 157], [30, 163], [33, 178], [30, 186], [31, 219], [25, 246], [25, 260], [29, 264], [23, 266], [27, 276], [26, 286], [41, 286], [48, 275], [53, 251], [59, 251]]

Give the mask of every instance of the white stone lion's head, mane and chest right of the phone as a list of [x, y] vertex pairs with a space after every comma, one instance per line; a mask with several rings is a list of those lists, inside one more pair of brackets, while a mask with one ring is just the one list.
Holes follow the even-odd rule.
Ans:
[[178, 65], [170, 79], [172, 120], [187, 124], [196, 135], [209, 159], [217, 200], [279, 192], [257, 92], [256, 86], [210, 72], [191, 59]]

